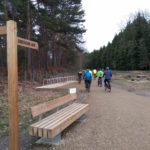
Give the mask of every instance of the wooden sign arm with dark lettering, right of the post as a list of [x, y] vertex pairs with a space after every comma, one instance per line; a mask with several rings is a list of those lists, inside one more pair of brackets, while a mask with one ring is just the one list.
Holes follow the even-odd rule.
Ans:
[[20, 37], [18, 37], [17, 44], [19, 46], [28, 47], [28, 48], [32, 48], [32, 49], [36, 49], [36, 50], [39, 49], [37, 42], [30, 41], [30, 40], [20, 38]]

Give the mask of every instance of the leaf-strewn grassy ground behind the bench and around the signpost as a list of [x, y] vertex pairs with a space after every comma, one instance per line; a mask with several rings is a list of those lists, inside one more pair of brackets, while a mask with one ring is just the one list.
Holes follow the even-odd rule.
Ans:
[[[19, 129], [20, 132], [28, 132], [29, 125], [34, 121], [30, 107], [64, 95], [64, 91], [36, 91], [35, 87], [39, 85], [32, 82], [18, 85]], [[4, 86], [4, 91], [0, 91], [0, 138], [9, 134], [7, 84]]]

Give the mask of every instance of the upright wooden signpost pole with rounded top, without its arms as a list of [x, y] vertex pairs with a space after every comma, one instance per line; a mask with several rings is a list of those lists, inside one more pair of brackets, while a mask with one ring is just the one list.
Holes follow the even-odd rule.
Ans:
[[9, 150], [19, 150], [17, 25], [7, 21]]

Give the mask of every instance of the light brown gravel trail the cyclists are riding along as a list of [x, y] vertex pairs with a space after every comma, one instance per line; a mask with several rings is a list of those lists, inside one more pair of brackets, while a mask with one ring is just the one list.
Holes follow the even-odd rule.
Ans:
[[[75, 85], [75, 84], [74, 84]], [[72, 86], [74, 86], [72, 85]], [[76, 85], [84, 92], [84, 85]], [[112, 92], [93, 81], [85, 103], [87, 118], [74, 123], [56, 150], [150, 150], [150, 97], [112, 87]], [[49, 146], [35, 146], [46, 150]]]

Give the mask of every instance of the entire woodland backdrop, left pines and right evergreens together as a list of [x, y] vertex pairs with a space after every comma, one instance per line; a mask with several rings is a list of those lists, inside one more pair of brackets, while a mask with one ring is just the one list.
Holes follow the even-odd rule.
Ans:
[[[37, 41], [39, 50], [18, 47], [19, 77], [38, 80], [80, 68], [150, 69], [150, 13], [132, 15], [106, 46], [83, 48], [82, 0], [2, 0], [0, 25], [15, 20], [18, 36]], [[100, 19], [100, 18], [99, 18]], [[109, 18], [107, 18], [109, 19]], [[98, 20], [103, 21], [103, 20]], [[110, 27], [111, 28], [111, 27]], [[7, 76], [6, 36], [0, 37], [0, 76]]]

